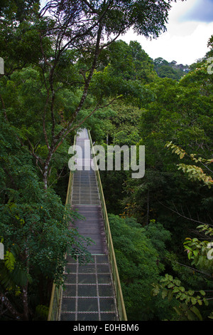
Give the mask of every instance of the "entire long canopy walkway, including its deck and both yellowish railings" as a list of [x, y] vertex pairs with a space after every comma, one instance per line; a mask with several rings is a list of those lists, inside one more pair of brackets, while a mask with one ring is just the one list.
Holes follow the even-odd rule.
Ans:
[[[89, 143], [89, 157], [85, 153]], [[99, 170], [91, 168], [93, 149], [90, 133], [84, 129], [77, 133], [75, 145], [82, 148], [77, 166], [82, 170], [70, 172], [67, 204], [77, 210], [85, 220], [76, 220], [75, 227], [83, 237], [94, 241], [88, 251], [92, 262], [80, 264], [67, 256], [65, 288], [53, 284], [48, 320], [54, 321], [117, 321], [126, 320], [119, 272], [111, 239]], [[97, 166], [96, 160], [94, 164]], [[70, 227], [71, 229], [71, 227]]]

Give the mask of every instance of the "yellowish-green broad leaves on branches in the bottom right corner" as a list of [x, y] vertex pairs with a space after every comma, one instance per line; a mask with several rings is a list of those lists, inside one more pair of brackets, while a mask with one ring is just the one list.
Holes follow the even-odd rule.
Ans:
[[[195, 238], [187, 237], [183, 246], [187, 251], [187, 257], [190, 259], [192, 265], [196, 269], [199, 269], [204, 277], [212, 277], [212, 242], [211, 237], [213, 236], [212, 228], [208, 225], [200, 225], [197, 227], [199, 232], [204, 232], [205, 236], [209, 236], [208, 240], [202, 240]], [[209, 247], [210, 245], [210, 247]], [[207, 279], [203, 282], [206, 284]], [[212, 282], [209, 279], [209, 282]], [[188, 284], [188, 283], [187, 283]], [[209, 306], [209, 301], [211, 301], [212, 290], [205, 289], [185, 289], [185, 286], [181, 285], [179, 279], [173, 278], [170, 274], [165, 274], [165, 277], [160, 279], [158, 284], [153, 284], [153, 296], [161, 294], [163, 299], [168, 299], [175, 309], [176, 315], [173, 316], [174, 320], [203, 320], [202, 312], [200, 308], [203, 309], [203, 306]], [[212, 287], [212, 285], [210, 286]], [[210, 294], [210, 297], [209, 297]], [[172, 302], [173, 301], [173, 302]], [[202, 306], [202, 307], [201, 307]], [[211, 307], [210, 307], [211, 308]], [[208, 309], [209, 311], [209, 309]], [[207, 315], [208, 318], [212, 318], [211, 314]]]

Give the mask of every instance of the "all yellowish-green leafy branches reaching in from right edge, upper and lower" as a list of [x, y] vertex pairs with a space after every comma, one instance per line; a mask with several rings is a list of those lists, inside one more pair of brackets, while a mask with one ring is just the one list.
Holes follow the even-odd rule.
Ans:
[[[167, 148], [173, 150], [173, 153], [180, 155], [180, 159], [184, 158], [187, 153], [182, 148], [179, 148], [177, 145], [173, 145], [173, 143], [167, 143], [165, 145]], [[207, 168], [208, 172], [212, 172], [209, 170], [207, 165], [212, 163], [212, 160], [203, 160], [202, 158], [195, 158], [195, 155], [190, 155], [190, 159], [195, 161], [195, 163], [200, 163], [202, 168]], [[188, 177], [192, 182], [199, 181], [202, 182], [204, 186], [212, 187], [212, 177], [207, 176], [203, 170], [197, 165], [182, 165], [179, 164], [179, 167], [183, 170], [183, 172], [187, 173]], [[192, 217], [186, 217], [183, 213], [176, 212], [177, 215], [185, 217], [187, 220], [192, 220], [193, 222], [199, 222], [194, 220]], [[176, 311], [176, 315], [173, 316], [175, 320], [200, 320], [210, 318], [212, 319], [213, 313], [211, 309], [211, 301], [212, 301], [212, 236], [213, 230], [211, 225], [207, 225], [206, 223], [200, 222], [200, 225], [197, 226], [196, 230], [193, 230], [195, 237], [186, 237], [185, 242], [183, 242], [183, 246], [185, 251], [187, 252], [187, 257], [190, 260], [190, 265], [187, 266], [181, 264], [182, 267], [187, 268], [187, 272], [189, 276], [195, 274], [197, 276], [197, 280], [199, 282], [198, 285], [202, 287], [198, 287], [195, 290], [195, 282], [194, 285], [191, 283], [190, 289], [186, 289], [179, 279], [173, 278], [173, 276], [165, 274], [160, 280], [160, 284], [153, 284], [153, 294], [157, 295], [161, 292], [163, 299], [168, 298], [169, 300], [175, 299], [178, 301], [177, 306], [173, 306]], [[198, 238], [197, 238], [198, 237]], [[186, 283], [189, 286], [189, 280]], [[194, 287], [193, 287], [194, 286]], [[210, 303], [210, 306], [209, 306]], [[201, 307], [202, 306], [202, 307]], [[207, 311], [204, 309], [206, 307]], [[202, 308], [202, 311], [200, 311]], [[203, 314], [203, 315], [202, 315]]]

